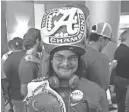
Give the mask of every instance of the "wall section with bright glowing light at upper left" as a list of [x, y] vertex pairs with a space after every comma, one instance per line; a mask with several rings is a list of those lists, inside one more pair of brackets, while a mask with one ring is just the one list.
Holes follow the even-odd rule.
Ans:
[[23, 38], [29, 27], [35, 27], [34, 2], [6, 2], [7, 40]]

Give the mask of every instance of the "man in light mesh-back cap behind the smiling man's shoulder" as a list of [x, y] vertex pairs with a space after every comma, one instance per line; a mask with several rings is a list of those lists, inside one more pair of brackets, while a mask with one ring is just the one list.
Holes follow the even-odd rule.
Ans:
[[109, 88], [110, 71], [115, 66], [109, 66], [109, 59], [102, 50], [112, 41], [112, 28], [107, 22], [100, 22], [92, 26], [89, 44], [83, 56], [87, 64], [87, 78], [97, 83], [105, 91]]

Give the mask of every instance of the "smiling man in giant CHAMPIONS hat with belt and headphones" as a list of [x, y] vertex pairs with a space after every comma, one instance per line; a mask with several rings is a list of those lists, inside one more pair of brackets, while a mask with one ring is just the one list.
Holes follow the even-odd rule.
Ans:
[[30, 112], [108, 112], [105, 91], [82, 77], [85, 32], [80, 8], [52, 9], [43, 16], [41, 37], [50, 55], [49, 67], [46, 79], [28, 84], [25, 101]]

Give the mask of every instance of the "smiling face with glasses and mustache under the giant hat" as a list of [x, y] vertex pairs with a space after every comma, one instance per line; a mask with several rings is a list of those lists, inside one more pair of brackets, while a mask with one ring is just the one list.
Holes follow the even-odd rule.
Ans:
[[59, 78], [69, 79], [78, 68], [78, 56], [69, 50], [57, 51], [51, 62]]

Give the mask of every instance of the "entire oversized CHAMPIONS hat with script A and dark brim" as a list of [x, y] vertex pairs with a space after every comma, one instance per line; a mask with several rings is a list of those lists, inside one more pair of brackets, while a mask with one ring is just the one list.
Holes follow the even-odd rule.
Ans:
[[83, 55], [86, 46], [85, 18], [83, 11], [76, 6], [56, 8], [47, 12], [41, 23], [41, 38], [45, 50], [51, 54], [67, 49]]

